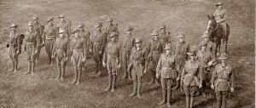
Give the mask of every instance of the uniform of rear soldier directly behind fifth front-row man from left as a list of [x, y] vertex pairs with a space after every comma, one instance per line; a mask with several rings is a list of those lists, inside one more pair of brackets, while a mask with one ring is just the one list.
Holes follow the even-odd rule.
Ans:
[[111, 42], [111, 39], [109, 38], [111, 32], [115, 32], [117, 34], [116, 41], [119, 41], [119, 28], [118, 26], [112, 24], [106, 27], [106, 34], [108, 38], [107, 43]]

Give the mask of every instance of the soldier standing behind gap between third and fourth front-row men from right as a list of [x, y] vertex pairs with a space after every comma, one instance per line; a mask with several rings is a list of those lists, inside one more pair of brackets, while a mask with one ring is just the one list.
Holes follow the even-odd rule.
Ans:
[[154, 30], [151, 33], [151, 36], [154, 36], [149, 40], [148, 43], [148, 58], [147, 58], [147, 71], [150, 71], [151, 75], [151, 81], [148, 82], [148, 84], [152, 84], [155, 82], [156, 85], [160, 85], [160, 83], [155, 79], [155, 68], [157, 66], [157, 63], [160, 59], [160, 54], [163, 53], [163, 45], [164, 41], [160, 39], [159, 33], [157, 30]]

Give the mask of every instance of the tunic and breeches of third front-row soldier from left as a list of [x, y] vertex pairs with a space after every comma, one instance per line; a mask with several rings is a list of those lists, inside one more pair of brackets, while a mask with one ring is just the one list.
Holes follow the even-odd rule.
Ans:
[[66, 58], [69, 56], [69, 39], [67, 37], [57, 38], [54, 44], [53, 52], [57, 65], [65, 67]]

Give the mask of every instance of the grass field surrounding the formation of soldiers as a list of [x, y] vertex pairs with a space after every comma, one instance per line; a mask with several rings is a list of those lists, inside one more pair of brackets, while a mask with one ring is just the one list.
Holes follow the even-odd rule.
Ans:
[[[149, 34], [162, 24], [172, 32], [172, 42], [177, 41], [179, 31], [185, 32], [187, 42], [197, 44], [207, 27], [207, 14], [212, 14], [217, 0], [1, 0], [0, 1], [0, 107], [160, 107], [160, 87], [147, 85], [148, 74], [143, 79], [143, 98], [130, 98], [132, 82], [120, 80], [119, 71], [117, 91], [113, 94], [103, 89], [107, 87], [107, 73], [96, 77], [93, 60], [88, 60], [86, 71], [79, 86], [70, 84], [73, 80], [73, 68], [67, 64], [67, 77], [64, 82], [54, 80], [56, 65], [46, 66], [47, 55], [44, 48], [36, 66], [36, 74], [23, 75], [26, 71], [26, 54], [20, 54], [19, 72], [7, 72], [11, 63], [8, 49], [4, 48], [12, 22], [19, 25], [18, 31], [27, 29], [27, 22], [38, 14], [39, 22], [45, 25], [47, 16], [54, 16], [56, 24], [59, 14], [66, 14], [73, 22], [73, 28], [83, 22], [89, 31], [94, 30], [98, 20], [106, 23], [108, 16], [119, 24], [121, 36], [127, 25], [134, 26], [135, 37], [143, 38], [143, 45], [148, 42]], [[230, 95], [228, 107], [255, 107], [255, 1], [225, 0], [230, 24], [228, 44], [230, 64], [235, 73], [235, 92]], [[178, 90], [174, 91], [172, 107], [185, 107], [185, 97]], [[195, 100], [197, 108], [214, 108], [215, 98]]]

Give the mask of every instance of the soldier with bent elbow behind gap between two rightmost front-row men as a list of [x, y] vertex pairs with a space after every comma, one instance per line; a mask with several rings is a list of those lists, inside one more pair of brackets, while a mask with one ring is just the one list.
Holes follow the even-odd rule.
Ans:
[[213, 62], [215, 62], [216, 59], [210, 51], [207, 51], [206, 42], [201, 43], [201, 50], [197, 52], [196, 57], [200, 62], [200, 74], [201, 74], [201, 81], [202, 81], [202, 85], [200, 86], [201, 93], [204, 98], [207, 98], [206, 89], [210, 88], [210, 75], [209, 75], [210, 73], [207, 69], [210, 66], [212, 66]]

